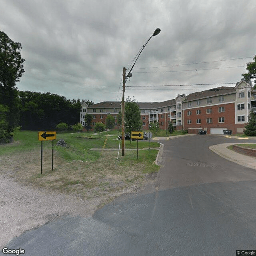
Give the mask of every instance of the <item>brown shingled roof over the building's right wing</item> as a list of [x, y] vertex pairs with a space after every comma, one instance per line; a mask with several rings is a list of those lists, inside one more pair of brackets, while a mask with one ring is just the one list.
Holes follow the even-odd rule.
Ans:
[[190, 93], [188, 94], [188, 96], [186, 96], [186, 100], [184, 100], [184, 102], [199, 100], [202, 98], [209, 98], [209, 97], [223, 95], [223, 94], [232, 94], [232, 93], [236, 93], [236, 88], [221, 86], [221, 87], [213, 88], [210, 90]]

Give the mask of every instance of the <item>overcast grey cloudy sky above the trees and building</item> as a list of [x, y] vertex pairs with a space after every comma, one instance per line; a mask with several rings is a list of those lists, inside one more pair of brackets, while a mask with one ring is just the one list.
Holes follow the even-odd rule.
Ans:
[[156, 28], [125, 98], [160, 102], [218, 87], [128, 86], [236, 83], [256, 55], [255, 0], [0, 0], [0, 30], [26, 60], [22, 91], [119, 101], [123, 67]]

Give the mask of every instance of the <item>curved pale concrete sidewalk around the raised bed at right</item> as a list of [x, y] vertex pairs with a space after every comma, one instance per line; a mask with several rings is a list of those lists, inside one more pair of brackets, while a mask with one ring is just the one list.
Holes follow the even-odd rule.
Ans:
[[[246, 166], [256, 170], [256, 158], [252, 156], [245, 156], [243, 154], [239, 154], [227, 148], [228, 146], [234, 145], [234, 144], [238, 144], [238, 143], [223, 143], [223, 144], [213, 145], [213, 146], [210, 146], [209, 149], [212, 150], [214, 153], [218, 154], [219, 156], [226, 158], [229, 161], [232, 161], [232, 162], [235, 162], [236, 164], [240, 164], [242, 166]], [[244, 144], [247, 144], [247, 143], [244, 143]], [[251, 143], [248, 143], [248, 144], [251, 144]]]

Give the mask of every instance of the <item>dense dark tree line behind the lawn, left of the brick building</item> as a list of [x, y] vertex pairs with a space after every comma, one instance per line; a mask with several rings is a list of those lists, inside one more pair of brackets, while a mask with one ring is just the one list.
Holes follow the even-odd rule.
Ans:
[[68, 100], [50, 92], [18, 92], [19, 125], [22, 130], [54, 130], [60, 122], [70, 127], [80, 122], [83, 101], [93, 104], [89, 100]]

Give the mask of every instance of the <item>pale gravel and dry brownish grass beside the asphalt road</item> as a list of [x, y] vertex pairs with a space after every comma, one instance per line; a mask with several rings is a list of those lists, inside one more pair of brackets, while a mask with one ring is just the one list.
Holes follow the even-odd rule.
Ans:
[[122, 194], [154, 186], [157, 173], [141, 173], [140, 165], [116, 165], [116, 154], [103, 154], [96, 162], [67, 162], [58, 152], [52, 171], [51, 150], [0, 156], [0, 247], [26, 230], [60, 216], [92, 216], [94, 211]]

